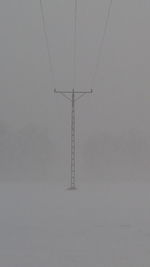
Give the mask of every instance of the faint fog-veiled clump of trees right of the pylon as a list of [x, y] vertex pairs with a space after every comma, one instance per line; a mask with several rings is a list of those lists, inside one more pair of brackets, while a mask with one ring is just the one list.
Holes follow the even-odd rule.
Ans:
[[84, 167], [92, 177], [132, 179], [150, 176], [150, 135], [135, 129], [126, 133], [101, 132], [83, 148]]

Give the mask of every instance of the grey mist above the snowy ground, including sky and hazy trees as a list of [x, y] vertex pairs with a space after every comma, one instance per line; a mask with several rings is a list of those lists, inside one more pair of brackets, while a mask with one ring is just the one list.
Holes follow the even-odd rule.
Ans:
[[[0, 3], [1, 180], [65, 182], [70, 175], [70, 104], [53, 88], [73, 86], [73, 7], [68, 0], [44, 1], [54, 81], [39, 1]], [[94, 94], [76, 105], [77, 173], [81, 179], [148, 179], [150, 3], [113, 2], [91, 84], [107, 7], [108, 1], [78, 3], [77, 88], [94, 86]]]

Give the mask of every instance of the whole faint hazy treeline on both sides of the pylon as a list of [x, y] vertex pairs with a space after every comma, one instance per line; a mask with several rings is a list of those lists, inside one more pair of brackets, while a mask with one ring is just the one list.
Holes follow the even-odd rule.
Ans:
[[[30, 123], [22, 129], [13, 130], [0, 121], [0, 181], [55, 179], [54, 172], [58, 174], [56, 177], [60, 176], [58, 180], [64, 179], [65, 182], [62, 173], [68, 174], [69, 178], [69, 151], [64, 151], [62, 155], [61, 148], [50, 134], [47, 128], [36, 124]], [[93, 133], [85, 140], [80, 147], [77, 146], [79, 175], [85, 174], [90, 180], [94, 177], [102, 180], [149, 179], [150, 136], [130, 129], [122, 134], [108, 131]]]

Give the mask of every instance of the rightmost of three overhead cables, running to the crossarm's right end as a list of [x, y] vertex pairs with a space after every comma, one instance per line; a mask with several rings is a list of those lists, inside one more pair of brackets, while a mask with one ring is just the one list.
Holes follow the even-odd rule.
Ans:
[[107, 10], [107, 14], [106, 14], [106, 20], [105, 20], [105, 24], [104, 24], [104, 30], [103, 30], [102, 38], [100, 40], [100, 44], [99, 44], [99, 47], [98, 47], [98, 55], [97, 55], [95, 71], [94, 71], [94, 73], [92, 75], [92, 79], [91, 79], [91, 88], [95, 87], [96, 76], [97, 76], [97, 73], [98, 73], [98, 70], [99, 70], [99, 67], [100, 67], [100, 63], [101, 63], [103, 46], [104, 46], [104, 42], [105, 42], [105, 36], [106, 36], [106, 33], [107, 33], [108, 25], [109, 25], [109, 19], [110, 19], [110, 14], [111, 14], [111, 9], [112, 9], [112, 3], [113, 3], [113, 0], [110, 0], [109, 6], [108, 6], [108, 10]]

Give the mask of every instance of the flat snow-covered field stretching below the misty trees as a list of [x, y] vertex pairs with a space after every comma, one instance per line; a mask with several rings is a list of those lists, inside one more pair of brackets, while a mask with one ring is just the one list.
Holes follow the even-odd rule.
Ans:
[[150, 184], [0, 184], [0, 266], [149, 267]]

